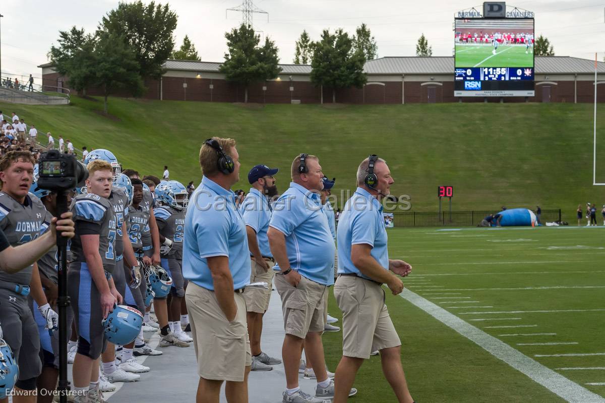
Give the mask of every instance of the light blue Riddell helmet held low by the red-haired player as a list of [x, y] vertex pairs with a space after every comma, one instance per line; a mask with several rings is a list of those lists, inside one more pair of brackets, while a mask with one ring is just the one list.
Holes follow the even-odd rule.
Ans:
[[113, 312], [103, 320], [105, 338], [113, 344], [123, 346], [139, 335], [143, 326], [143, 314], [136, 308], [126, 305], [114, 306]]

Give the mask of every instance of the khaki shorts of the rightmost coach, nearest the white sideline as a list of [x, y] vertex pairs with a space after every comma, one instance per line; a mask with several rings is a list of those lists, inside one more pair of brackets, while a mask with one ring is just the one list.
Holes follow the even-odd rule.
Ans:
[[341, 276], [334, 295], [342, 310], [342, 355], [367, 359], [373, 351], [401, 346], [381, 286], [361, 277]]

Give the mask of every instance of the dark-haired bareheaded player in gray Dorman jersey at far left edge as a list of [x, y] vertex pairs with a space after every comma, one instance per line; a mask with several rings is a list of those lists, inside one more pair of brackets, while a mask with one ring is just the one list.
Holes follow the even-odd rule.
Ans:
[[[26, 151], [8, 152], [0, 160], [0, 229], [13, 246], [38, 238], [50, 224], [45, 221], [42, 201], [28, 194], [33, 182], [33, 163]], [[57, 329], [59, 315], [44, 295], [38, 265], [34, 263], [13, 274], [0, 272], [0, 323], [10, 329], [4, 340], [19, 365], [13, 402], [31, 401], [31, 391], [36, 390], [36, 378], [42, 370], [38, 326], [27, 301], [30, 290], [46, 320], [45, 329]]]

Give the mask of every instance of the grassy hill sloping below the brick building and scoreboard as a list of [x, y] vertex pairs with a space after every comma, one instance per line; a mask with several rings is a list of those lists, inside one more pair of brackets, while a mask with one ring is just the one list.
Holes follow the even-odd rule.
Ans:
[[[438, 185], [453, 185], [453, 209], [561, 208], [575, 219], [578, 204], [603, 205], [605, 187], [592, 186], [590, 104], [442, 103], [436, 105], [233, 105], [229, 103], [110, 100], [72, 97], [69, 106], [0, 103], [40, 131], [62, 134], [76, 148], [108, 148], [125, 168], [188, 183], [201, 179], [201, 142], [233, 137], [241, 180], [257, 163], [281, 168], [278, 187], [290, 182], [299, 152], [319, 157], [335, 191], [355, 189], [358, 163], [368, 154], [390, 165], [395, 195], [411, 197], [414, 211], [437, 209]], [[605, 105], [599, 105], [601, 163], [605, 182]], [[346, 197], [345, 197], [346, 198]]]

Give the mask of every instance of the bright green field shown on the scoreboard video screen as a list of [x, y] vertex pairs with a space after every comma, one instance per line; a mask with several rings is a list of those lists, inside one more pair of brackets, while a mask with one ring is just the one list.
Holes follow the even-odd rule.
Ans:
[[495, 54], [491, 45], [456, 45], [456, 67], [534, 67], [533, 48], [500, 45]]

